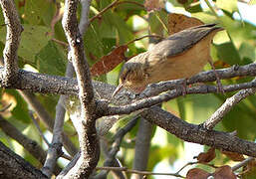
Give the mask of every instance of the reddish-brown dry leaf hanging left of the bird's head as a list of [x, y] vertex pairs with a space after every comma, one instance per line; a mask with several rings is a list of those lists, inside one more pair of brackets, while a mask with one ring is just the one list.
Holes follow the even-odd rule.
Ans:
[[120, 63], [126, 60], [125, 52], [127, 50], [127, 45], [119, 46], [107, 56], [102, 57], [102, 59], [91, 68], [92, 76], [101, 76], [111, 72]]

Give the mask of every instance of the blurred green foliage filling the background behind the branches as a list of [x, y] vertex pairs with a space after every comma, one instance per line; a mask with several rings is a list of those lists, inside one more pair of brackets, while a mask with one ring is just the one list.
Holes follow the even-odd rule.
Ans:
[[[54, 26], [52, 24], [54, 17], [57, 15], [57, 3], [52, 0], [15, 0], [15, 2], [24, 27], [18, 52], [20, 68], [30, 65], [31, 69], [39, 73], [64, 76], [68, 62], [67, 47], [63, 46], [66, 43], [66, 39], [62, 30], [61, 21], [56, 22]], [[62, 0], [57, 2], [63, 7], [64, 2]], [[92, 18], [97, 15], [112, 2], [111, 0], [94, 0], [92, 2], [90, 17]], [[161, 6], [158, 6], [157, 3], [153, 4], [157, 1], [147, 1], [145, 5], [146, 9], [150, 11], [149, 13], [143, 8], [142, 0], [120, 2], [120, 4], [117, 4], [92, 21], [84, 36], [86, 55], [92, 67], [103, 59], [114, 62], [113, 59], [115, 59], [115, 55], [117, 54], [111, 53], [117, 52], [117, 48], [120, 48], [119, 58], [126, 56], [127, 59], [145, 51], [148, 47], [147, 39], [133, 43], [130, 43], [130, 41], [147, 35], [148, 32], [159, 36], [167, 36], [166, 27], [164, 26], [167, 26], [167, 11], [169, 9], [165, 10]], [[235, 15], [240, 15], [236, 0], [216, 0], [213, 8], [211, 5], [212, 9], [208, 7], [202, 8], [197, 0], [168, 0], [168, 3], [172, 3], [173, 5], [173, 8], [170, 9], [171, 13], [182, 12], [189, 14], [191, 17], [195, 17], [203, 23], [217, 23], [226, 29], [225, 32], [220, 32], [215, 37], [212, 46], [211, 55], [216, 68], [224, 68], [236, 64], [245, 65], [255, 61], [256, 27], [250, 22], [241, 19], [241, 16], [240, 19], [234, 18]], [[78, 16], [80, 16], [80, 13], [78, 13]], [[0, 24], [2, 25], [0, 27], [0, 48], [2, 55], [6, 41], [6, 25], [2, 14], [0, 15]], [[63, 43], [58, 43], [53, 39], [57, 39], [58, 42]], [[109, 56], [106, 58], [107, 55]], [[121, 68], [122, 66], [117, 66], [112, 72], [103, 74], [101, 78], [94, 78], [101, 79], [105, 83], [118, 85]], [[209, 69], [209, 66], [205, 67], [205, 70]], [[236, 78], [222, 81], [222, 83], [234, 84], [236, 82], [246, 81], [248, 81], [247, 78]], [[6, 100], [3, 97], [6, 93], [13, 96], [15, 105], [10, 99]], [[230, 93], [225, 93], [225, 95], [194, 94], [185, 97], [182, 96], [175, 100], [165, 102], [163, 107], [186, 121], [200, 123], [207, 119], [225, 98], [230, 95]], [[39, 133], [35, 130], [33, 121], [28, 115], [30, 106], [25, 103], [19, 92], [13, 89], [1, 89], [1, 96], [1, 107], [4, 107], [10, 102], [13, 105], [13, 107], [9, 108], [11, 114], [1, 113], [1, 115], [23, 131], [23, 133], [29, 133], [31, 137], [34, 136], [34, 139], [42, 144]], [[54, 109], [58, 97], [47, 94], [37, 94], [37, 96], [44, 104], [46, 110], [54, 118]], [[239, 137], [254, 140], [256, 137], [254, 125], [256, 121], [255, 101], [256, 96], [250, 96], [241, 101], [225, 116], [223, 122], [218, 124], [217, 129], [230, 132], [236, 130]], [[42, 123], [40, 125], [43, 132], [46, 132], [46, 126]], [[74, 128], [69, 128], [69, 125], [71, 125], [71, 122], [67, 119], [65, 130], [67, 133], [74, 134]], [[107, 139], [111, 140], [112, 134], [121, 126], [124, 126], [124, 124], [118, 122], [111, 130], [111, 134], [107, 135]], [[136, 130], [135, 128], [128, 133], [122, 145], [122, 151], [125, 155], [120, 155], [120, 158], [128, 168], [131, 168], [132, 165], [133, 150], [130, 148], [133, 147], [133, 143], [130, 144], [126, 140], [133, 139]], [[157, 133], [157, 130], [154, 133]], [[14, 143], [13, 139], [4, 135], [1, 130], [0, 136], [1, 140], [4, 138], [3, 141], [9, 144], [9, 147], [13, 149], [17, 147], [18, 144]], [[154, 135], [152, 140], [154, 141], [155, 138], [159, 138], [159, 136]], [[169, 134], [161, 137], [161, 143], [166, 144], [160, 145], [157, 142], [152, 142], [148, 164], [149, 170], [152, 170], [158, 162], [166, 159], [169, 159], [169, 164], [173, 164], [185, 152], [183, 150], [183, 141]], [[30, 162], [35, 162], [23, 149], [17, 152], [30, 160]], [[215, 160], [215, 165], [223, 165], [230, 162], [230, 160], [224, 161], [223, 156], [217, 156]]]

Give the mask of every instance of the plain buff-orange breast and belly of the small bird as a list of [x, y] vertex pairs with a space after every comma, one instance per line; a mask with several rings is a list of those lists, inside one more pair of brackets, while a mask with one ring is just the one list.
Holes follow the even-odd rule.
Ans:
[[164, 54], [149, 57], [149, 84], [176, 79], [188, 79], [202, 71], [210, 60], [210, 44], [213, 36], [207, 36], [192, 48], [176, 56]]

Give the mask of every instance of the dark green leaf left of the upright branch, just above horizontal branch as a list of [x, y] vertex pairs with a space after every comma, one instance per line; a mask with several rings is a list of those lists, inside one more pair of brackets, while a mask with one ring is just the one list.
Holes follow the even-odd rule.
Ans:
[[57, 76], [65, 75], [68, 61], [67, 55], [64, 53], [64, 50], [54, 42], [49, 41], [47, 46], [36, 55], [35, 59], [40, 73]]

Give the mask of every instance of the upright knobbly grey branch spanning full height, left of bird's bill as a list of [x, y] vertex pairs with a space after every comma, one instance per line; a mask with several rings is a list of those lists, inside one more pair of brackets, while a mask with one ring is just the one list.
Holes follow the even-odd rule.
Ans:
[[[90, 4], [91, 1], [88, 6]], [[84, 42], [78, 28], [77, 5], [78, 0], [66, 0], [62, 23], [70, 46], [69, 56], [72, 57], [78, 79], [81, 118], [72, 121], [79, 135], [81, 156], [65, 177], [88, 178], [98, 163], [100, 147], [96, 132], [96, 102]]]

